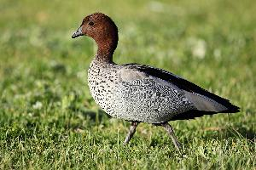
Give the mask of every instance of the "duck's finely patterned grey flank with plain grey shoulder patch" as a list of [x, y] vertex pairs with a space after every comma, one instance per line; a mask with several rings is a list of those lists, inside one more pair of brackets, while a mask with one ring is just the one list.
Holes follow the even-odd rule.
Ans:
[[117, 101], [121, 118], [160, 123], [179, 113], [195, 109], [184, 91], [176, 85], [143, 71], [119, 70]]

